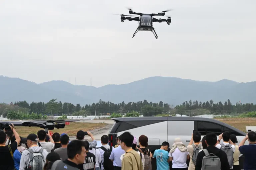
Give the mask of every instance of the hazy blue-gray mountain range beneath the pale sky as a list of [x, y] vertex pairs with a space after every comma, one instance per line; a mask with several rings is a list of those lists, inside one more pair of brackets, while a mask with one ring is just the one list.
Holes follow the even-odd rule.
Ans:
[[175, 77], [149, 77], [122, 85], [106, 85], [99, 88], [72, 85], [65, 81], [50, 81], [36, 84], [19, 78], [0, 76], [0, 102], [15, 101], [48, 102], [58, 101], [81, 105], [102, 101], [121, 103], [148, 100], [179, 105], [186, 100], [214, 102], [230, 101], [235, 104], [256, 103], [256, 82], [238, 83], [231, 80], [217, 82], [195, 81]]

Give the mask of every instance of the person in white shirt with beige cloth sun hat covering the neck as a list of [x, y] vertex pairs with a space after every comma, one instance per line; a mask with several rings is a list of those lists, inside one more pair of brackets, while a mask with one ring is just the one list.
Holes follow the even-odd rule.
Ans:
[[181, 139], [175, 138], [172, 148], [169, 152], [169, 161], [172, 161], [172, 170], [187, 170], [187, 159], [189, 159], [189, 152], [181, 141]]

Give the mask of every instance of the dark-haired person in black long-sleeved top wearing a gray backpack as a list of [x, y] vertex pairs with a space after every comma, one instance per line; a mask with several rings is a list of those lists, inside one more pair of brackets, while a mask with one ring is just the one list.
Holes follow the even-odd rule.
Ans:
[[[217, 144], [217, 136], [215, 133], [208, 133], [206, 134], [206, 144], [207, 144], [207, 151], [209, 153], [213, 153], [214, 155], [218, 156], [220, 158], [221, 162], [221, 170], [229, 170], [229, 163], [228, 163], [228, 157], [227, 154], [218, 149], [216, 146]], [[202, 160], [205, 156], [205, 153], [203, 151], [199, 152], [196, 159], [196, 168], [195, 170], [201, 170], [202, 168]]]

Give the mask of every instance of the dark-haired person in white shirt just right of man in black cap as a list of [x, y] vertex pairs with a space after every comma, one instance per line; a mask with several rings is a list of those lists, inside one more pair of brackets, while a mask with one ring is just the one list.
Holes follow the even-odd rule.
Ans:
[[[37, 136], [38, 136], [38, 139], [39, 139], [38, 146], [41, 146], [48, 153], [50, 153], [51, 150], [54, 149], [54, 146], [55, 146], [52, 136], [50, 134], [46, 133], [45, 130], [39, 130], [37, 132]], [[46, 136], [48, 136], [50, 138], [50, 142], [45, 141]]]

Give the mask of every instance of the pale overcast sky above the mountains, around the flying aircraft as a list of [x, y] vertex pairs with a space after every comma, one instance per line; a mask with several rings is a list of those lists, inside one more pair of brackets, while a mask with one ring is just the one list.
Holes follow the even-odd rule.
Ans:
[[[129, 15], [166, 9], [170, 25], [139, 31]], [[256, 81], [256, 1], [1, 0], [0, 75], [96, 87], [151, 76]], [[156, 17], [165, 18], [165, 17]], [[76, 79], [76, 82], [75, 82]]]

